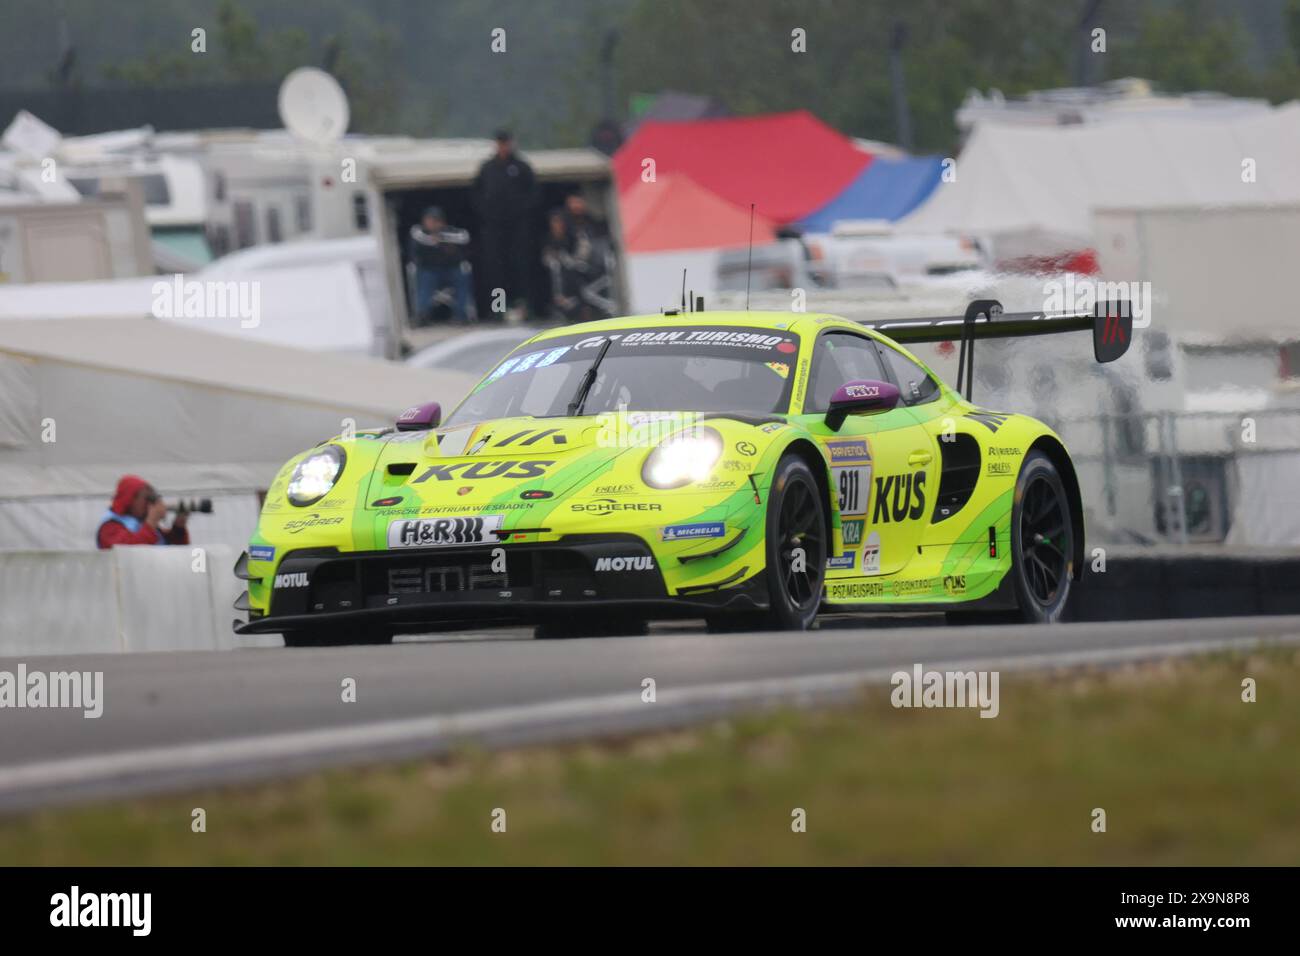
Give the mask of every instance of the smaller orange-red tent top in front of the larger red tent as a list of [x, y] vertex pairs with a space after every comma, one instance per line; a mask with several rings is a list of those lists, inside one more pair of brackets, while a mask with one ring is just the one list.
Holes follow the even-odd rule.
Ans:
[[[732, 206], [689, 176], [637, 182], [619, 196], [623, 242], [629, 252], [734, 248], [749, 242], [749, 208]], [[754, 245], [776, 238], [771, 220], [754, 215]]]

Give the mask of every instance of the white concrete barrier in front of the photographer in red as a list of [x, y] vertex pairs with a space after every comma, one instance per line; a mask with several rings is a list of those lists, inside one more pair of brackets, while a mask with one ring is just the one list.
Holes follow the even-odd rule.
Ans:
[[234, 648], [237, 557], [225, 545], [0, 551], [0, 657]]

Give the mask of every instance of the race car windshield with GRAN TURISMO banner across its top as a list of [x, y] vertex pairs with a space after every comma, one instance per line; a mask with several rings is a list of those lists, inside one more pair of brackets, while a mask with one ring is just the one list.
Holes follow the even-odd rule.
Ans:
[[573, 334], [521, 346], [460, 403], [447, 424], [569, 414], [610, 342], [584, 415], [624, 411], [784, 411], [798, 337], [784, 329], [673, 326]]

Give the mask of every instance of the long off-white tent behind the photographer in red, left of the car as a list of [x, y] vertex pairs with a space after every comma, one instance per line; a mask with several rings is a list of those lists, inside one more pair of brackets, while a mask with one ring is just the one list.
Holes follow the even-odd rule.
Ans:
[[0, 321], [0, 549], [92, 546], [124, 473], [213, 498], [196, 544], [242, 546], [287, 458], [472, 384], [147, 319]]

